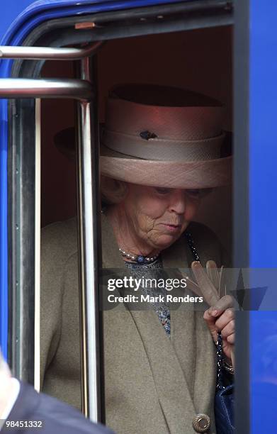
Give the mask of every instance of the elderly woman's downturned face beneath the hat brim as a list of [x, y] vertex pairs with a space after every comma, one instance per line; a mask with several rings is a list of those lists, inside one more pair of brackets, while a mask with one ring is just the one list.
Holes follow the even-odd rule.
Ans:
[[199, 203], [199, 190], [128, 184], [123, 206], [135, 236], [162, 250], [180, 237]]

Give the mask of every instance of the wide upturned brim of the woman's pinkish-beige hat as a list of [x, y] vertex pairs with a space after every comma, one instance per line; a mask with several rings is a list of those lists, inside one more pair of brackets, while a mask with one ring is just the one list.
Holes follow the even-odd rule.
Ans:
[[[74, 128], [62, 130], [55, 135], [54, 141], [64, 155], [74, 160]], [[101, 144], [100, 170], [106, 177], [132, 184], [176, 189], [208, 189], [231, 184], [232, 156], [190, 162], [142, 160], [120, 154]]]

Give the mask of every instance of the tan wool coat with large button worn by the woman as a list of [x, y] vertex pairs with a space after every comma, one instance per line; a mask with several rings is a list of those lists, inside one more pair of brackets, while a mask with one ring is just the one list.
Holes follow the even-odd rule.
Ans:
[[[220, 243], [200, 223], [189, 230], [203, 265], [224, 265]], [[103, 268], [124, 268], [108, 219], [102, 221]], [[181, 237], [162, 252], [164, 268], [193, 258]], [[76, 220], [42, 235], [41, 375], [43, 391], [80, 406]], [[171, 311], [171, 337], [157, 313], [104, 311], [106, 423], [118, 434], [193, 434], [193, 417], [210, 416], [215, 434], [215, 345], [203, 311]]]

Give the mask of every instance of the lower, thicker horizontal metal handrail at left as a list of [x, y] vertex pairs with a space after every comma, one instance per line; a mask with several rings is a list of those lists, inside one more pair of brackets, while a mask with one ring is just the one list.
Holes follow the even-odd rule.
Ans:
[[0, 98], [72, 98], [90, 101], [91, 84], [81, 79], [0, 79]]

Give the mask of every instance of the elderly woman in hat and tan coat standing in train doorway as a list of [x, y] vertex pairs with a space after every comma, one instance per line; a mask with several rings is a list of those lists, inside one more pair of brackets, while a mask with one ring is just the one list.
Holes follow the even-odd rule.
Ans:
[[[101, 140], [101, 192], [108, 204], [101, 221], [103, 268], [155, 277], [193, 260], [226, 265], [214, 233], [192, 222], [202, 191], [230, 181], [230, 157], [220, 157], [221, 121], [217, 101], [182, 89], [111, 91]], [[80, 403], [77, 264], [76, 221], [48, 226], [43, 389], [74, 406]], [[104, 311], [107, 425], [119, 434], [215, 433], [215, 340], [221, 330], [230, 359], [233, 317], [230, 309], [208, 309], [203, 318], [203, 311], [172, 310], [163, 301], [146, 311], [128, 304]]]

